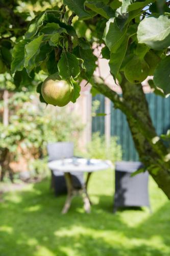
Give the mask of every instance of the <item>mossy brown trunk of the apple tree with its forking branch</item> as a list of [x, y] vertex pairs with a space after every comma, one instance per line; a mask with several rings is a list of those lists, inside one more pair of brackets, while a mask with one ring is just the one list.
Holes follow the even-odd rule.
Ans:
[[104, 83], [96, 82], [94, 85], [114, 103], [115, 108], [126, 115], [140, 161], [170, 200], [170, 154], [156, 134], [142, 86], [131, 84], [125, 77], [120, 86], [123, 97], [119, 97]]

